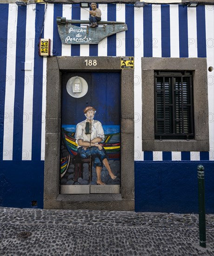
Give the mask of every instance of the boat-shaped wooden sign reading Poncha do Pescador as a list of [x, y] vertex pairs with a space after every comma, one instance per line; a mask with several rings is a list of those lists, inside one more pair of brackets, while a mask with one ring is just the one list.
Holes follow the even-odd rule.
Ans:
[[62, 24], [60, 19], [65, 18], [57, 17], [58, 32], [62, 44], [98, 44], [107, 36], [127, 30], [127, 25], [123, 22], [99, 21], [98, 27], [88, 27], [87, 25], [86, 27], [77, 27], [73, 24], [89, 24], [89, 21], [66, 20], [65, 24]]

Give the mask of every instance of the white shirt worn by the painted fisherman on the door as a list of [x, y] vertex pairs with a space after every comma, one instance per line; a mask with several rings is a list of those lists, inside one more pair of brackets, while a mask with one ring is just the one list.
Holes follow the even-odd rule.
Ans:
[[[97, 137], [104, 140], [104, 138], [105, 138], [104, 130], [102, 128], [102, 124], [100, 123], [100, 121], [93, 120], [91, 122], [91, 133], [90, 134], [86, 134], [86, 122], [87, 122], [87, 119], [85, 121], [82, 121], [77, 124], [76, 134], [75, 134], [76, 143], [78, 144], [78, 140], [90, 142]], [[79, 145], [78, 145], [78, 148], [80, 148]]]

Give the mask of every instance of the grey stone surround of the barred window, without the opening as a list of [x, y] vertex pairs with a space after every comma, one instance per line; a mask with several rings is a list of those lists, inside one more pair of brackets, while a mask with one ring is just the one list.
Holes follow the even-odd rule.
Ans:
[[[209, 151], [207, 59], [141, 58], [142, 151]], [[154, 71], [189, 71], [193, 74], [194, 139], [154, 137]]]

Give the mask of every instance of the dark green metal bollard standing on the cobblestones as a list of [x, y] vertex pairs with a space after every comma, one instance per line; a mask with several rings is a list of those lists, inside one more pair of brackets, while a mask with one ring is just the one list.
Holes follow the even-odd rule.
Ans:
[[205, 192], [204, 192], [203, 165], [198, 165], [198, 205], [199, 205], [200, 246], [206, 248], [206, 217], [205, 217]]

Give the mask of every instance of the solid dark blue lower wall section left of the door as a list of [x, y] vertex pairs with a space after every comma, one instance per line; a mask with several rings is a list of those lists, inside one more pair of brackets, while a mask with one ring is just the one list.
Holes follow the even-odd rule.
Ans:
[[0, 161], [0, 206], [43, 208], [44, 161]]

